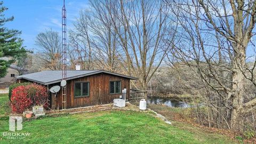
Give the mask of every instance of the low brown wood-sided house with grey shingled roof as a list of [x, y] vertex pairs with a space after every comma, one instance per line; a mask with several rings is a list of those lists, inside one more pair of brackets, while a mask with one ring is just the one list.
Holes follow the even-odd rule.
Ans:
[[[27, 75], [17, 76], [17, 83], [33, 82], [47, 86], [59, 85], [62, 81], [61, 70], [41, 71]], [[130, 80], [138, 78], [111, 73], [105, 70], [67, 70], [66, 105], [67, 108], [86, 107], [113, 103], [113, 100], [122, 95], [126, 89], [126, 99], [129, 100]], [[61, 109], [62, 92], [56, 97], [49, 91], [52, 108]]]

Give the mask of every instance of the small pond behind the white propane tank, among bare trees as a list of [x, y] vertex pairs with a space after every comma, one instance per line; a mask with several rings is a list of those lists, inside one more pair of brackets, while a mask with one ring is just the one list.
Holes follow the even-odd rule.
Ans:
[[148, 97], [148, 104], [155, 105], [164, 105], [167, 107], [175, 107], [175, 108], [190, 108], [191, 104], [184, 101], [179, 101], [173, 98], [163, 98], [163, 97]]

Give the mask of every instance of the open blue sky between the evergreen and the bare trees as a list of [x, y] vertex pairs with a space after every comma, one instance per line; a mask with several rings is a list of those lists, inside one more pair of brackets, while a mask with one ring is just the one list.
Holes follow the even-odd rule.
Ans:
[[[52, 29], [61, 34], [61, 9], [63, 0], [3, 0], [5, 17], [14, 16], [5, 27], [22, 32], [23, 46], [36, 51], [37, 34]], [[79, 16], [79, 11], [88, 9], [87, 0], [66, 0], [67, 30], [73, 28], [73, 22]]]

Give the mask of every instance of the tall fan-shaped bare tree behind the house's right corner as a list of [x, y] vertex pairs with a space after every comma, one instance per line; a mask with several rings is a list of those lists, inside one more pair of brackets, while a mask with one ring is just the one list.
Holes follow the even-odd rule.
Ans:
[[111, 16], [119, 44], [121, 63], [126, 73], [139, 77], [143, 90], [166, 56], [172, 39], [168, 33], [170, 9], [162, 1], [103, 1]]

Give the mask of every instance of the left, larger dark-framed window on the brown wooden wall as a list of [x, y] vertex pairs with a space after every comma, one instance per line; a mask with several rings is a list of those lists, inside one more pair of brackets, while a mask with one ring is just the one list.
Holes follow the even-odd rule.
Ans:
[[76, 97], [89, 97], [89, 82], [75, 82], [74, 96]]

